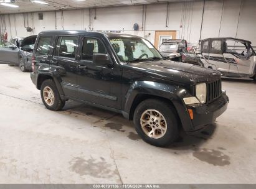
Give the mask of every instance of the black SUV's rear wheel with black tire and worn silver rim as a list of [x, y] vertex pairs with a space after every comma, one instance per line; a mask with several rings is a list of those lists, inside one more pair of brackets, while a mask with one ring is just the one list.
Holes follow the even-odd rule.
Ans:
[[[65, 101], [60, 98], [59, 91], [53, 80], [43, 81], [40, 88], [41, 98], [44, 106], [53, 111], [59, 111], [65, 106]], [[49, 98], [50, 95], [50, 98]], [[48, 98], [47, 98], [48, 96]], [[45, 99], [47, 98], [47, 99]]]

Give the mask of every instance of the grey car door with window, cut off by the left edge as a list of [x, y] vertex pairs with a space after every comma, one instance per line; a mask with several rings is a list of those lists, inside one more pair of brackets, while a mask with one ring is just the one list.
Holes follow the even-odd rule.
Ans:
[[0, 39], [0, 63], [18, 64], [19, 48], [16, 45]]

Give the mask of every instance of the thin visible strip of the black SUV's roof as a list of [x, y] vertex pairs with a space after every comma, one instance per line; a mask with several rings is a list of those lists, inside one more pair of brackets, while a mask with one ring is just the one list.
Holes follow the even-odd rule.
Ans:
[[87, 30], [47, 30], [47, 31], [40, 32], [40, 35], [41, 34], [49, 34], [49, 35], [96, 34], [96, 35], [105, 35], [106, 37], [139, 37], [136, 35], [123, 34], [123, 33], [87, 31]]

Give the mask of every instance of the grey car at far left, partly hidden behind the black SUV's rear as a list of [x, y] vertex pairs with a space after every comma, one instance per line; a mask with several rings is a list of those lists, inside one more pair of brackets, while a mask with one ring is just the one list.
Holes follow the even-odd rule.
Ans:
[[24, 39], [13, 38], [10, 41], [14, 42], [14, 44], [0, 39], [0, 63], [19, 65], [21, 71], [31, 71], [32, 51], [36, 37], [37, 35], [32, 35]]

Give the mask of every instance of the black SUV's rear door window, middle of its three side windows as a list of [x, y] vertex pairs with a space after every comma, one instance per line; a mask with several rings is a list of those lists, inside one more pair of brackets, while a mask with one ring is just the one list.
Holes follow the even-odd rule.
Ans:
[[57, 40], [54, 55], [57, 57], [75, 58], [75, 51], [77, 50], [78, 37], [63, 36]]

